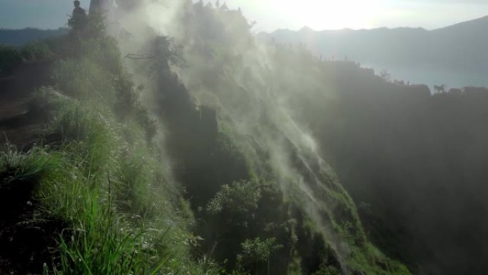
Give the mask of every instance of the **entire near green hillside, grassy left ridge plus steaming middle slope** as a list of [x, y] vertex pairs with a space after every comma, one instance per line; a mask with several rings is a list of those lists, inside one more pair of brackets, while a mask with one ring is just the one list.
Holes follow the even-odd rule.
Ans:
[[184, 1], [164, 29], [145, 13], [168, 6], [120, 4], [122, 54], [95, 14], [2, 48], [4, 93], [30, 97], [0, 118], [0, 273], [410, 274], [368, 240], [290, 109], [332, 83], [320, 61], [258, 44], [239, 11]]

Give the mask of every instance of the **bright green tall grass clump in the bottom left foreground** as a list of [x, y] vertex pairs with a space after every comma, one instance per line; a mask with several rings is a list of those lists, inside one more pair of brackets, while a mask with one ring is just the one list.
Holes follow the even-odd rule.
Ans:
[[167, 259], [151, 249], [145, 229], [124, 221], [113, 209], [110, 193], [101, 194], [93, 180], [78, 175], [50, 195], [50, 205], [57, 204], [71, 221], [71, 228], [61, 234], [54, 274], [156, 274]]

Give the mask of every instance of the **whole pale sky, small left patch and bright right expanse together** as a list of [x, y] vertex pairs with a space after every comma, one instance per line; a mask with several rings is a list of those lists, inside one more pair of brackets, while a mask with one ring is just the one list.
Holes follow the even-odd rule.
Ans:
[[[167, 0], [178, 1], [178, 0]], [[216, 0], [213, 2], [215, 3]], [[222, 4], [225, 0], [220, 0]], [[488, 0], [226, 0], [240, 7], [255, 31], [275, 29], [437, 29], [488, 15]], [[81, 0], [88, 9], [89, 0]], [[71, 0], [0, 0], [0, 29], [57, 29], [66, 25]]]

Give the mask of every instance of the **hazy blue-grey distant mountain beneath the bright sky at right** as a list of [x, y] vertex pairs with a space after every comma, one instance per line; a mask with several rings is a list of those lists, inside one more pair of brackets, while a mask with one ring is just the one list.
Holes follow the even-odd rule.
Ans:
[[[410, 69], [417, 73], [446, 71], [442, 74], [445, 79], [441, 75], [418, 78], [419, 81], [449, 81], [459, 74], [459, 78], [466, 79], [459, 83], [480, 85], [485, 81], [482, 74], [488, 71], [487, 29], [488, 16], [485, 16], [432, 31], [421, 28], [313, 31], [303, 28], [259, 36], [278, 43], [301, 44], [325, 59], [349, 59], [377, 69]], [[415, 71], [403, 75], [415, 78]], [[476, 75], [479, 77], [470, 77]]]

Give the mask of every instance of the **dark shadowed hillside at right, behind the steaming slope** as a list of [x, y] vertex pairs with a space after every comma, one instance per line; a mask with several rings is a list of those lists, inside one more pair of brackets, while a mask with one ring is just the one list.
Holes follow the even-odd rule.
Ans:
[[355, 64], [294, 109], [360, 209], [373, 242], [415, 274], [484, 274], [488, 90], [430, 95]]

